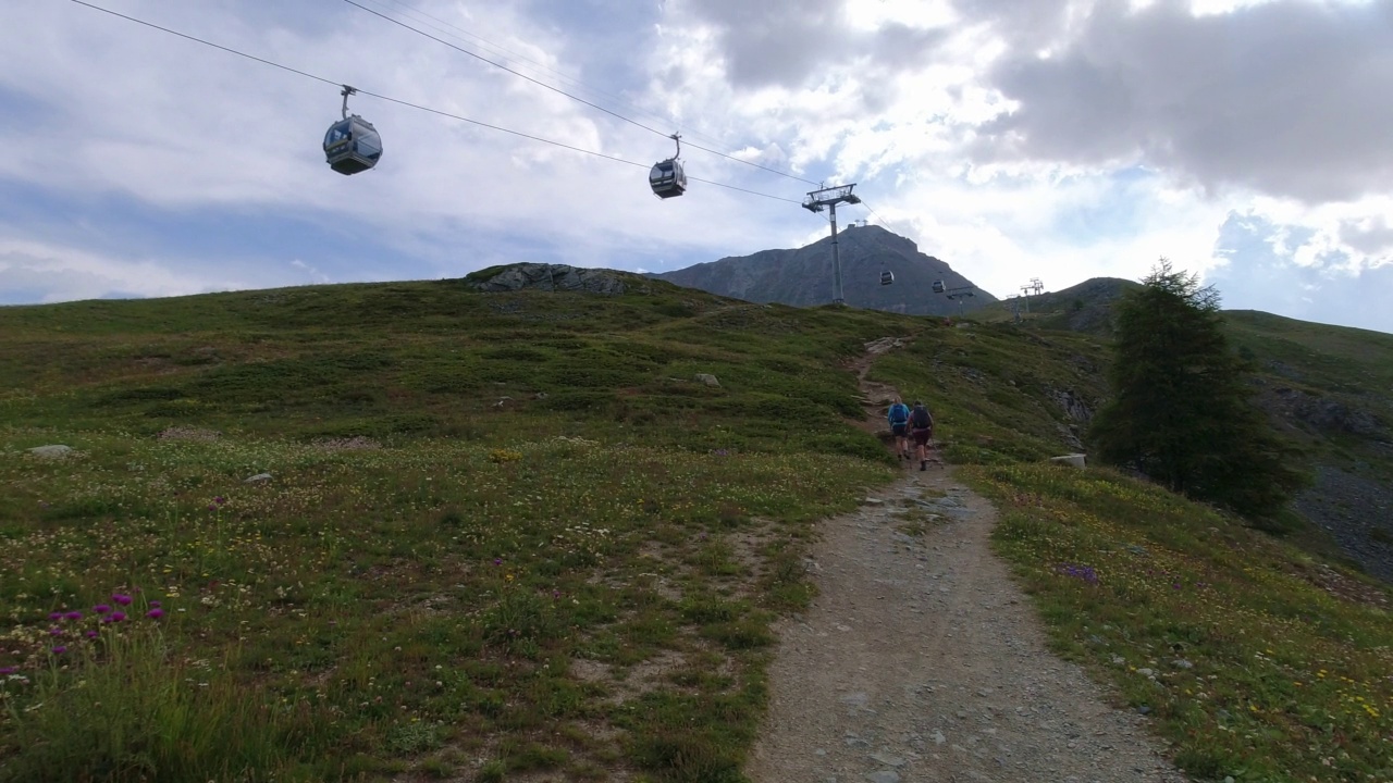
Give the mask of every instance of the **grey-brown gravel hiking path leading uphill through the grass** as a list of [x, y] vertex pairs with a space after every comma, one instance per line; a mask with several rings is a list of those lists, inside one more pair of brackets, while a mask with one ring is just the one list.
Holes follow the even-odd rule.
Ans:
[[[857, 369], [879, 415], [894, 390], [864, 382], [871, 358]], [[779, 628], [755, 782], [1185, 780], [1145, 718], [1107, 706], [1078, 666], [1046, 651], [988, 549], [995, 520], [951, 468], [907, 465], [825, 522], [820, 596]]]

